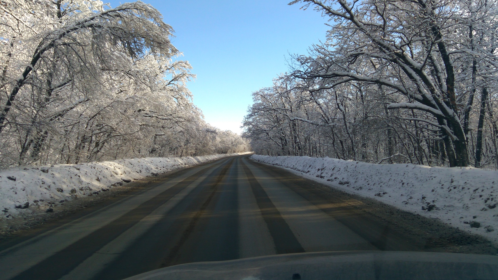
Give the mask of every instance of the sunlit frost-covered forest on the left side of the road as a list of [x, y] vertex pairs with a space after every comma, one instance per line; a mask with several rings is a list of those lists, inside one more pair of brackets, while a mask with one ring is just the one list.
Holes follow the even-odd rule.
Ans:
[[149, 4], [0, 1], [0, 169], [246, 151], [192, 101], [188, 61]]

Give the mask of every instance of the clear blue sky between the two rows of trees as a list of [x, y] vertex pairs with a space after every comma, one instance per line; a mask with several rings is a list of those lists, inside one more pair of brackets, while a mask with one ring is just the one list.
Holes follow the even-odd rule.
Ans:
[[287, 71], [289, 53], [305, 54], [328, 29], [319, 12], [289, 6], [290, 0], [142, 1], [175, 30], [172, 43], [197, 75], [188, 88], [206, 122], [235, 133], [251, 93], [270, 86]]

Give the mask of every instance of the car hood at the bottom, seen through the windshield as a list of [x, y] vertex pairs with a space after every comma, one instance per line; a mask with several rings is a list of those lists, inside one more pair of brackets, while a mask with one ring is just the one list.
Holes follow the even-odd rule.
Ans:
[[320, 252], [177, 265], [127, 280], [498, 279], [498, 256], [431, 252]]

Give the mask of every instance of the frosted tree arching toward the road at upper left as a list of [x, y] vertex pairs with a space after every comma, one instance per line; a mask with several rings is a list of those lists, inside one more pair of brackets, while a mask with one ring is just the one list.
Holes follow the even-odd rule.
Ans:
[[[72, 76], [84, 68], [90, 71], [117, 67], [124, 70], [131, 61], [119, 59], [122, 55], [134, 58], [143, 55], [148, 50], [152, 54], [170, 57], [177, 52], [169, 40], [171, 26], [162, 21], [160, 13], [152, 6], [137, 1], [104, 10], [102, 4], [99, 5], [96, 1], [91, 3], [91, 5], [86, 5], [85, 2], [79, 4], [70, 2], [63, 5], [61, 0], [51, 3], [55, 16], [52, 17], [48, 30], [35, 31], [33, 35], [36, 36], [33, 39], [22, 41], [22, 43], [30, 43], [33, 51], [27, 63], [22, 63], [25, 66], [21, 67], [20, 75], [13, 79], [10, 87], [7, 87], [9, 88], [8, 95], [0, 112], [0, 133], [17, 94], [29, 79], [46, 80], [49, 84], [47, 91], [50, 91], [46, 95], [49, 97], [51, 91], [73, 81]], [[12, 3], [12, 5], [16, 4], [21, 7], [9, 8], [7, 6], [3, 10], [6, 18], [21, 23], [22, 20], [15, 16], [14, 10], [22, 9], [22, 3]], [[43, 2], [38, 3], [40, 6], [43, 4]], [[25, 12], [30, 13], [29, 10]], [[13, 28], [13, 26], [9, 27]], [[11, 36], [11, 44], [14, 44], [17, 38]], [[87, 48], [88, 46], [90, 48]], [[117, 54], [118, 57], [114, 57], [113, 54]], [[115, 58], [118, 59], [115, 60]], [[61, 60], [67, 63], [62, 65], [57, 63]], [[120, 62], [124, 65], [119, 65]], [[83, 69], [80, 67], [81, 64], [85, 65]], [[63, 68], [57, 69], [60, 66]], [[4, 76], [7, 76], [8, 70], [4, 69]], [[56, 84], [57, 86], [51, 86], [53, 84], [51, 78], [59, 74], [57, 70], [65, 71], [69, 76], [63, 82]], [[37, 77], [37, 74], [43, 72], [46, 73], [45, 79]], [[15, 74], [12, 73], [9, 76], [12, 75]]]

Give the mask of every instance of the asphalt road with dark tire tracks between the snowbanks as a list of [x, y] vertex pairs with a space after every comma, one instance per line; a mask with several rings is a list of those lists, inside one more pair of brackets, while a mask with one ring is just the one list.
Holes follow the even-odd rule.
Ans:
[[315, 184], [248, 155], [186, 168], [3, 249], [0, 279], [114, 280], [191, 262], [430, 247]]

